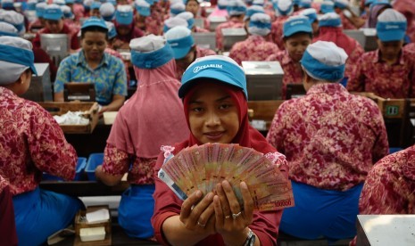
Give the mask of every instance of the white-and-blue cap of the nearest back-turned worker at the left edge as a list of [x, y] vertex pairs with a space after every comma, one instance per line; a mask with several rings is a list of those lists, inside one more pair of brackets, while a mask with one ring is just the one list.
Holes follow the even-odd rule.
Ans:
[[21, 37], [0, 37], [0, 85], [14, 83], [27, 69], [37, 75], [32, 44]]

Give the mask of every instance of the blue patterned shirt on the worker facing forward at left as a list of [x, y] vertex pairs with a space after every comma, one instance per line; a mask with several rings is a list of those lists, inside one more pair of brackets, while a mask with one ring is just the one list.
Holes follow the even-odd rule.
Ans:
[[102, 105], [112, 102], [113, 94], [127, 95], [124, 63], [108, 53], [95, 70], [89, 68], [82, 50], [65, 58], [59, 65], [54, 92], [63, 92], [63, 84], [68, 82], [94, 83], [95, 100]]

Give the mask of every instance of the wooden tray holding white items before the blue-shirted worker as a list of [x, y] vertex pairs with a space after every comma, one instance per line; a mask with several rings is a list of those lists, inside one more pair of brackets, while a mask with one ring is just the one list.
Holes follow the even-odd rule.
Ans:
[[83, 117], [89, 119], [87, 125], [60, 125], [65, 134], [90, 134], [98, 124], [97, 102], [38, 102], [52, 115], [62, 115], [68, 111], [85, 111]]

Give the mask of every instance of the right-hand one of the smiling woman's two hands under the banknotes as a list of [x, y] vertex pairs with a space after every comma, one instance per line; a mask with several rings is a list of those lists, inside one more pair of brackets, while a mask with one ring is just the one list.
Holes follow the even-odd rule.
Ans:
[[216, 185], [217, 195], [213, 198], [216, 231], [222, 235], [227, 245], [243, 245], [249, 231], [247, 226], [253, 222], [253, 198], [245, 182], [241, 182], [239, 187], [244, 208], [239, 205], [227, 180]]

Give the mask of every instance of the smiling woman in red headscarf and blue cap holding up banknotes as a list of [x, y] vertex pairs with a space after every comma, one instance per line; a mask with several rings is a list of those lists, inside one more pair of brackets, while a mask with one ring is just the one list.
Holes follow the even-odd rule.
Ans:
[[[191, 133], [183, 143], [163, 146], [156, 172], [164, 158], [195, 144], [238, 143], [266, 154], [287, 179], [285, 156], [249, 125], [245, 74], [236, 61], [220, 55], [197, 59], [184, 73], [178, 95]], [[181, 201], [156, 177], [152, 224], [157, 241], [170, 245], [276, 245], [282, 209], [253, 211], [249, 187], [245, 181], [238, 186], [242, 206], [228, 180], [215, 184], [213, 192], [196, 190]]]

